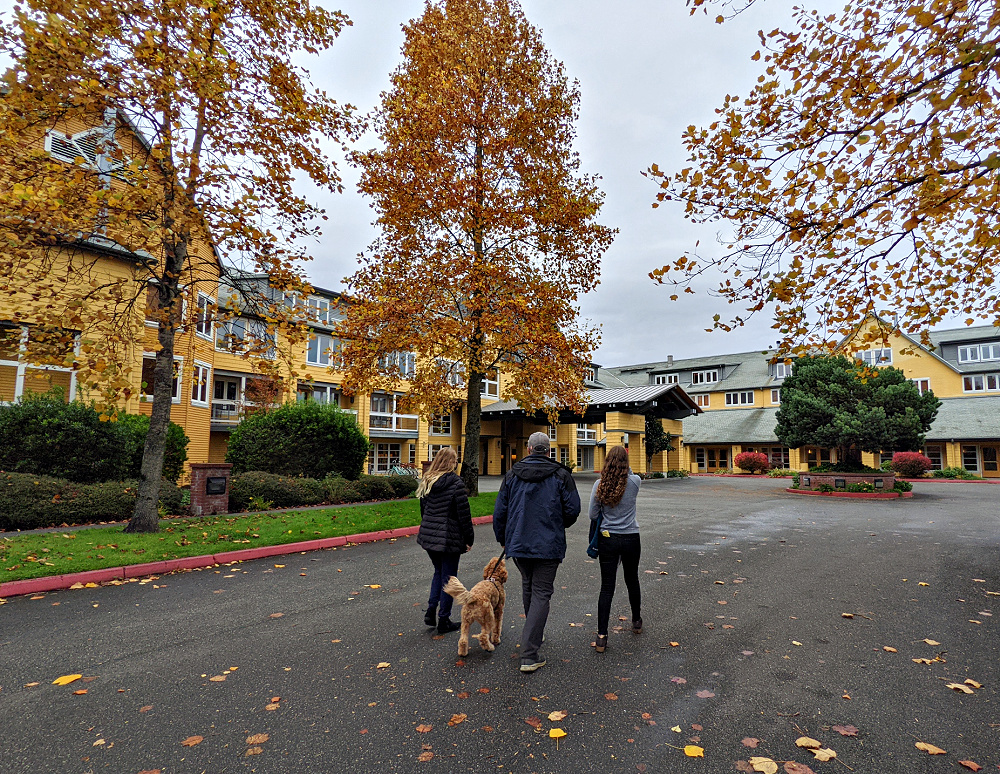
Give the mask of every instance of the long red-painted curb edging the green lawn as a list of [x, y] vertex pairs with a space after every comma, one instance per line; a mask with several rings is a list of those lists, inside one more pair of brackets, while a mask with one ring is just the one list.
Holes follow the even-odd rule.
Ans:
[[[492, 516], [478, 516], [473, 524], [492, 524]], [[49, 575], [44, 578], [30, 578], [21, 581], [0, 583], [0, 597], [17, 597], [25, 594], [39, 594], [45, 591], [68, 589], [76, 583], [106, 583], [113, 580], [128, 580], [142, 578], [146, 575], [164, 575], [177, 570], [195, 570], [200, 567], [213, 567], [217, 564], [246, 562], [251, 559], [266, 559], [270, 556], [285, 556], [299, 554], [305, 551], [319, 551], [324, 548], [340, 548], [359, 543], [374, 543], [379, 540], [411, 537], [420, 531], [420, 527], [401, 527], [399, 529], [384, 529], [379, 532], [365, 532], [360, 535], [344, 535], [342, 537], [306, 540], [301, 543], [285, 543], [280, 546], [260, 546], [259, 548], [244, 548], [239, 551], [225, 551], [221, 554], [206, 554], [205, 556], [185, 556], [180, 559], [168, 559], [163, 562], [147, 562], [131, 564], [125, 567], [108, 567], [103, 570], [88, 570], [69, 575]]]

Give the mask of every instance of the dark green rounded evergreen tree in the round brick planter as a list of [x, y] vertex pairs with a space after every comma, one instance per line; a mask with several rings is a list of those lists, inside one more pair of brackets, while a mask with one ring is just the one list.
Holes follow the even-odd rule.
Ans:
[[793, 449], [836, 449], [838, 464], [859, 466], [861, 452], [919, 449], [940, 405], [898, 368], [807, 355], [781, 385], [774, 434]]

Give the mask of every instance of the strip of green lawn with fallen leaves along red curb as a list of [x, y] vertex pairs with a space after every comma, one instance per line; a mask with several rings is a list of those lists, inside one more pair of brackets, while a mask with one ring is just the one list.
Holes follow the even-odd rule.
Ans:
[[[493, 513], [496, 494], [470, 498], [472, 515]], [[152, 535], [126, 535], [119, 527], [72, 532], [0, 535], [0, 582], [64, 575], [184, 556], [277, 546], [420, 523], [416, 500], [311, 511], [171, 519]]]

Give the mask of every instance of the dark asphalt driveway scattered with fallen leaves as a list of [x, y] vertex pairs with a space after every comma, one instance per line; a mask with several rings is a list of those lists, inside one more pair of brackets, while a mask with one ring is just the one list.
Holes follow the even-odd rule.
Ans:
[[[845, 501], [786, 485], [644, 482], [646, 628], [612, 631], [602, 655], [581, 517], [534, 674], [517, 670], [517, 571], [503, 642], [460, 660], [457, 634], [422, 624], [431, 565], [413, 539], [9, 599], [0, 772], [732, 772], [755, 755], [817, 774], [996, 770], [1000, 489]], [[476, 541], [467, 586], [495, 553], [489, 525]], [[72, 673], [86, 682], [52, 685]]]

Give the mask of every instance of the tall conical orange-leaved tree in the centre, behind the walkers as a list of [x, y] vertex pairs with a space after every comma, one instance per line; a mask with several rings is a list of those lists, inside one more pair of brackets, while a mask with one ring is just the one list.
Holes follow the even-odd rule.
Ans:
[[425, 414], [464, 389], [475, 493], [485, 377], [502, 370], [502, 397], [529, 411], [580, 404], [597, 333], [577, 300], [615, 232], [572, 148], [578, 86], [515, 0], [429, 1], [404, 33], [374, 117], [382, 147], [355, 157], [380, 236], [348, 280], [345, 381], [406, 378]]

